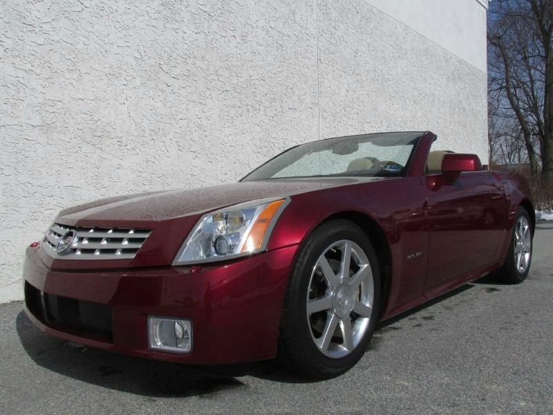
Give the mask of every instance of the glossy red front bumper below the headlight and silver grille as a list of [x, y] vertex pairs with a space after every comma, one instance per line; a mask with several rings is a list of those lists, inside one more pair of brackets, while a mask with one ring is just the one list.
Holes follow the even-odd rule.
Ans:
[[[289, 246], [200, 270], [176, 266], [62, 271], [48, 269], [39, 249], [28, 248], [26, 313], [45, 333], [144, 358], [198, 365], [272, 358], [296, 250]], [[64, 319], [48, 313], [44, 297], [85, 304], [92, 320], [99, 315], [104, 321], [80, 326], [60, 322]], [[188, 354], [149, 349], [148, 315], [191, 320], [194, 349]]]

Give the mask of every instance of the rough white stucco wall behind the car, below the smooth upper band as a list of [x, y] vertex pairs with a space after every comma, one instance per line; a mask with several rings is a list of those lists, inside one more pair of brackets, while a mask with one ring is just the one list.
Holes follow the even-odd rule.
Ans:
[[348, 133], [431, 129], [485, 159], [486, 122], [485, 73], [363, 0], [4, 0], [0, 302], [69, 205]]

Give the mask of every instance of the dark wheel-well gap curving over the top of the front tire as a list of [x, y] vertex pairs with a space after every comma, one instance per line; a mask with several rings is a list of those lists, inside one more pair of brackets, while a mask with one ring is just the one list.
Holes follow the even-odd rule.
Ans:
[[390, 243], [384, 230], [375, 219], [371, 218], [367, 214], [357, 212], [354, 210], [346, 210], [343, 212], [337, 212], [326, 217], [323, 221], [317, 224], [315, 228], [318, 228], [324, 223], [333, 221], [335, 219], [346, 219], [355, 223], [366, 234], [371, 241], [373, 248], [375, 249], [378, 259], [378, 267], [380, 268], [381, 278], [381, 293], [380, 293], [380, 316], [382, 317], [383, 311], [386, 309], [386, 303], [388, 301], [388, 294], [391, 287], [392, 279], [392, 257], [390, 250]]

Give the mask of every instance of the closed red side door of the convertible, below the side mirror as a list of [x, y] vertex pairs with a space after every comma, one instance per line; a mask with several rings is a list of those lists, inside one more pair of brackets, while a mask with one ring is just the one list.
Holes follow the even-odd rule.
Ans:
[[435, 185], [429, 176], [426, 181], [425, 292], [497, 261], [505, 221], [505, 194], [494, 174], [462, 172], [452, 183]]

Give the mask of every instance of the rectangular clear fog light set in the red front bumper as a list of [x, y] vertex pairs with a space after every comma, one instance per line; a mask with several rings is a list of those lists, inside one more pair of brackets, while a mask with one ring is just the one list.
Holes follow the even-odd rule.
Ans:
[[148, 338], [150, 349], [189, 353], [192, 350], [192, 322], [149, 315]]

